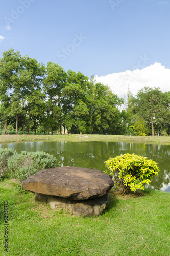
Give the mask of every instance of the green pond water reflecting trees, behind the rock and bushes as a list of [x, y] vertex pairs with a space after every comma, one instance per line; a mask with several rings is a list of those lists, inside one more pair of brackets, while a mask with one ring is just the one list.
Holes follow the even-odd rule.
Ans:
[[125, 153], [135, 153], [158, 163], [161, 172], [155, 177], [150, 188], [170, 192], [170, 146], [127, 142], [66, 142], [36, 141], [3, 143], [0, 148], [10, 147], [21, 151], [45, 151], [53, 154], [62, 166], [85, 167], [106, 170], [105, 161]]

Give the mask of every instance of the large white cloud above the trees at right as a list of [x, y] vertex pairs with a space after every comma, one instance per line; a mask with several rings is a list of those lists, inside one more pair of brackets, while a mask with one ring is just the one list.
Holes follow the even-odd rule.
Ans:
[[170, 90], [170, 69], [166, 69], [160, 63], [155, 62], [155, 64], [141, 70], [127, 70], [106, 76], [96, 76], [96, 82], [108, 84], [112, 92], [122, 98], [127, 95], [128, 85], [133, 96], [144, 86], [160, 87], [162, 92], [167, 92]]

